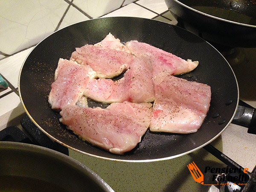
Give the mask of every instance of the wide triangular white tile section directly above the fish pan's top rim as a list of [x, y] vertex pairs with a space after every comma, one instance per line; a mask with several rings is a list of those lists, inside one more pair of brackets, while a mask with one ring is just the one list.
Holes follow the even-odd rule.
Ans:
[[151, 19], [157, 14], [148, 11], [147, 9], [144, 9], [141, 6], [138, 6], [134, 3], [131, 3], [127, 6], [124, 6], [116, 11], [113, 11], [107, 15], [104, 15], [103, 17], [119, 17], [119, 16], [126, 16], [126, 17], [143, 17], [143, 18], [148, 18]]

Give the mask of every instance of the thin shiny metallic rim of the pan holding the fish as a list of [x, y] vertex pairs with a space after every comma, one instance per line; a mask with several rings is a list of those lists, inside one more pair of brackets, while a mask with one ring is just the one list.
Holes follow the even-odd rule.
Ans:
[[[112, 17], [103, 17], [103, 18], [112, 18]], [[94, 18], [94, 19], [91, 19], [91, 20], [103, 19], [103, 18]], [[116, 17], [116, 18], [118, 18], [118, 17]], [[141, 18], [141, 17], [126, 17], [126, 18], [140, 18], [140, 19], [145, 19], [145, 20], [153, 20], [153, 19], [147, 19], [147, 18]], [[80, 21], [80, 22], [77, 22], [77, 23], [82, 23], [82, 22], [86, 22], [86, 20], [85, 20], [85, 21]], [[163, 22], [163, 21], [157, 21], [157, 22], [165, 23], [165, 22]], [[69, 26], [75, 25], [75, 24], [77, 24], [77, 23], [73, 23], [73, 24], [71, 24], [71, 25], [69, 25]], [[171, 24], [170, 24], [170, 25], [171, 25]], [[68, 27], [68, 26], [66, 26], [66, 27]], [[64, 28], [66, 28], [66, 27], [64, 27]], [[176, 26], [176, 27], [178, 27], [178, 26]], [[61, 29], [64, 29], [64, 28], [61, 28]], [[180, 28], [180, 27], [179, 27], [179, 28]], [[59, 29], [59, 30], [61, 30], [61, 29]], [[181, 28], [181, 29], [182, 29], [182, 28]], [[58, 32], [59, 30], [57, 30], [57, 31], [55, 31], [55, 32]], [[183, 30], [185, 30], [185, 29], [183, 29]], [[44, 38], [42, 41], [44, 41], [45, 39], [47, 39], [49, 36], [55, 34], [55, 32], [53, 32], [52, 34], [48, 35], [48, 36], [47, 36], [46, 38]], [[198, 37], [198, 36], [197, 36], [197, 37]], [[199, 38], [201, 38], [201, 37], [199, 37]], [[201, 39], [202, 39], [202, 38], [201, 38]], [[204, 40], [204, 39], [202, 39], [202, 40]], [[20, 96], [20, 101], [21, 101], [21, 104], [23, 105], [23, 108], [24, 108], [26, 114], [29, 116], [29, 119], [31, 119], [31, 121], [32, 121], [44, 134], [46, 134], [46, 135], [47, 135], [49, 138], [51, 138], [52, 140], [54, 140], [54, 141], [60, 143], [61, 145], [64, 145], [65, 147], [67, 147], [67, 148], [69, 148], [69, 149], [72, 149], [73, 151], [79, 152], [79, 153], [81, 153], [81, 154], [88, 155], [88, 156], [90, 156], [90, 157], [95, 157], [95, 158], [99, 158], [99, 159], [103, 159], [103, 160], [119, 161], [119, 162], [145, 163], [145, 162], [155, 162], [155, 161], [160, 161], [160, 160], [170, 160], [170, 159], [174, 159], [174, 158], [176, 158], [176, 157], [181, 157], [181, 156], [183, 156], [183, 155], [185, 155], [185, 154], [189, 154], [189, 153], [192, 153], [192, 152], [194, 152], [194, 151], [197, 151], [198, 149], [203, 148], [205, 145], [208, 145], [209, 143], [211, 143], [213, 140], [215, 140], [217, 137], [219, 137], [219, 136], [222, 134], [222, 132], [230, 125], [230, 123], [232, 122], [233, 118], [234, 118], [235, 115], [236, 115], [236, 111], [237, 111], [237, 108], [238, 108], [238, 105], [239, 105], [239, 85], [238, 85], [238, 81], [237, 81], [237, 79], [236, 79], [236, 75], [235, 75], [233, 69], [231, 68], [230, 64], [229, 64], [229, 63], [227, 62], [227, 60], [224, 58], [224, 56], [221, 55], [221, 53], [220, 53], [215, 47], [213, 47], [211, 44], [209, 44], [209, 42], [207, 42], [207, 41], [204, 40], [204, 41], [207, 42], [212, 48], [214, 48], [214, 49], [224, 58], [224, 60], [227, 62], [228, 66], [230, 67], [230, 69], [231, 69], [231, 71], [232, 71], [232, 73], [233, 73], [233, 75], [234, 75], [234, 77], [235, 77], [236, 86], [237, 86], [237, 91], [238, 91], [237, 102], [236, 102], [236, 109], [235, 109], [235, 111], [234, 111], [234, 113], [233, 113], [233, 116], [230, 118], [230, 121], [227, 123], [227, 125], [226, 125], [215, 137], [213, 137], [213, 138], [212, 138], [211, 140], [209, 140], [208, 142], [206, 142], [206, 143], [204, 143], [204, 144], [202, 144], [202, 145], [198, 146], [197, 148], [194, 148], [194, 149], [192, 149], [192, 150], [190, 150], [190, 151], [186, 151], [186, 152], [184, 152], [184, 153], [177, 154], [177, 155], [174, 155], [174, 156], [171, 156], [171, 157], [163, 157], [163, 158], [148, 159], [148, 160], [123, 160], [123, 159], [114, 159], [114, 158], [102, 157], [102, 156], [98, 156], [98, 155], [94, 155], [94, 154], [90, 154], [90, 153], [87, 153], [87, 152], [78, 150], [78, 149], [76, 149], [76, 148], [73, 148], [73, 147], [70, 146], [70, 145], [67, 145], [67, 144], [61, 142], [60, 140], [56, 139], [55, 137], [53, 137], [52, 135], [50, 135], [49, 133], [47, 133], [43, 128], [41, 128], [41, 126], [38, 125], [38, 123], [32, 118], [32, 116], [31, 116], [31, 115], [29, 114], [29, 112], [27, 111], [26, 106], [24, 105], [24, 102], [23, 102], [23, 99], [22, 99], [22, 96], [21, 96], [20, 77], [21, 77], [21, 73], [22, 73], [23, 66], [24, 66], [24, 64], [25, 64], [25, 62], [26, 62], [26, 60], [27, 60], [27, 58], [29, 57], [29, 55], [32, 53], [32, 51], [33, 51], [39, 44], [41, 44], [42, 41], [40, 41], [40, 42], [29, 52], [29, 54], [26, 56], [25, 60], [23, 61], [22, 66], [21, 66], [21, 68], [20, 68], [19, 79], [18, 79], [18, 92], [19, 92], [19, 96]]]

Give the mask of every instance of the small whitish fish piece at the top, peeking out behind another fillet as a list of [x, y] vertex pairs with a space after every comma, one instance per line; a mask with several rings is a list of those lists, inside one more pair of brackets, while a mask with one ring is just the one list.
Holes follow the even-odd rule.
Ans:
[[94, 46], [101, 47], [101, 48], [107, 48], [107, 49], [115, 49], [115, 50], [131, 53], [130, 50], [127, 47], [125, 47], [124, 44], [122, 44], [120, 42], [119, 38], [116, 39], [111, 33], [109, 33], [99, 43], [94, 44]]

